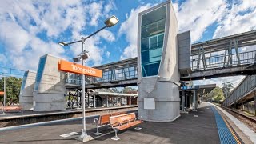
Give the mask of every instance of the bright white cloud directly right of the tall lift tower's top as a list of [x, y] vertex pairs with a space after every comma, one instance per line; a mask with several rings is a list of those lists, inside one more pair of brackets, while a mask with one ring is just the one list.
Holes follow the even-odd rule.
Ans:
[[174, 4], [178, 29], [180, 32], [190, 30], [191, 41], [198, 41], [208, 26], [226, 14], [226, 7], [225, 0], [191, 0], [183, 2], [181, 6]]

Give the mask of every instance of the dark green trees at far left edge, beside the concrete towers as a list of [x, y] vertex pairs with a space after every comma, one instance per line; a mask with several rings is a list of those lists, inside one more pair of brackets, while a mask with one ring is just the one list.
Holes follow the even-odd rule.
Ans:
[[[6, 103], [19, 101], [18, 96], [22, 86], [22, 78], [6, 78]], [[0, 79], [0, 91], [4, 91], [4, 78]], [[0, 102], [3, 102], [3, 96], [0, 96]]]

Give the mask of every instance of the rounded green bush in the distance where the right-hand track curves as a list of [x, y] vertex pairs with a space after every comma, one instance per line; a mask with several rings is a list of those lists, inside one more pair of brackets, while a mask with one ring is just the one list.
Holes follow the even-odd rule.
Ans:
[[206, 99], [206, 101], [222, 101], [225, 99], [225, 97], [222, 89], [217, 86], [214, 88], [214, 90], [211, 90], [210, 93], [206, 94], [204, 99]]

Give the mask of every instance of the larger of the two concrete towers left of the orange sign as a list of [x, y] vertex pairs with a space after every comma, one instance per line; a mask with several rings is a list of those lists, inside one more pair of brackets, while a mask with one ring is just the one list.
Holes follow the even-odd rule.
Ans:
[[34, 111], [66, 110], [65, 74], [58, 71], [58, 61], [50, 54], [42, 56], [34, 83]]

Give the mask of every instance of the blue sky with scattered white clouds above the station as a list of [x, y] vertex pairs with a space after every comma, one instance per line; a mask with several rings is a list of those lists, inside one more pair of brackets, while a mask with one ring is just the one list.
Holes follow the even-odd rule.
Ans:
[[[0, 67], [37, 70], [38, 59], [53, 54], [71, 61], [81, 44], [59, 46], [86, 37], [115, 15], [116, 26], [86, 40], [87, 66], [137, 56], [138, 13], [163, 0], [0, 0]], [[173, 0], [178, 31], [190, 30], [191, 41], [203, 42], [256, 30], [255, 0]], [[255, 47], [254, 47], [255, 48]], [[246, 50], [246, 49], [245, 49]], [[233, 82], [244, 78], [212, 78], [195, 84]]]

